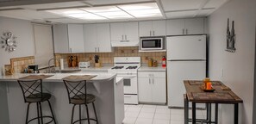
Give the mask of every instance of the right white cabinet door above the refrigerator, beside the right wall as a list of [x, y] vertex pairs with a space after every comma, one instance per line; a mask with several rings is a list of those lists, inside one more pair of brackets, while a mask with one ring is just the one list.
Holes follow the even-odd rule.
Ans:
[[186, 34], [203, 34], [204, 21], [203, 18], [194, 18], [185, 20]]

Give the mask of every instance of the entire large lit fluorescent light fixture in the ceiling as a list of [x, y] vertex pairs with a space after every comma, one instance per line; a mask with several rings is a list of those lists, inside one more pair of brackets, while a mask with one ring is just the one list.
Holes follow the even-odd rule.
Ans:
[[83, 20], [115, 20], [163, 16], [157, 3], [138, 3], [78, 9], [50, 9], [46, 11]]

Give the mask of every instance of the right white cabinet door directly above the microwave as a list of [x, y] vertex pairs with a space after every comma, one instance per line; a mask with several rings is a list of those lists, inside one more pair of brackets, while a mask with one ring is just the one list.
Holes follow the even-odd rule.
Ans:
[[152, 22], [152, 35], [153, 36], [165, 36], [166, 35], [166, 22], [165, 21], [153, 21]]

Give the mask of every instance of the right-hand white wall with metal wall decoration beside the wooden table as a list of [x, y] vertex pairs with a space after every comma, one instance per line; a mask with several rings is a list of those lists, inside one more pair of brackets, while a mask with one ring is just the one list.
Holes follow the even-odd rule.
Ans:
[[[255, 0], [230, 0], [209, 16], [209, 77], [222, 80], [243, 99], [240, 124], [253, 124], [255, 6]], [[225, 51], [228, 18], [234, 21], [235, 53]], [[223, 105], [221, 112], [222, 124], [234, 123], [233, 106]]]

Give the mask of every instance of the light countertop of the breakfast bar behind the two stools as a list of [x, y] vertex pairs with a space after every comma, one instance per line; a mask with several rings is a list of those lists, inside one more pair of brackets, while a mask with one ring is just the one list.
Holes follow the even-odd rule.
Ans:
[[91, 81], [106, 81], [112, 78], [116, 78], [116, 73], [90, 73], [85, 71], [78, 71], [76, 73], [39, 73], [39, 74], [25, 74], [16, 73], [10, 76], [0, 76], [0, 81], [16, 81], [18, 78], [23, 78], [28, 75], [53, 75], [52, 77], [45, 78], [44, 82], [62, 82], [62, 78], [66, 78], [70, 75], [97, 75], [95, 78], [91, 78]]

